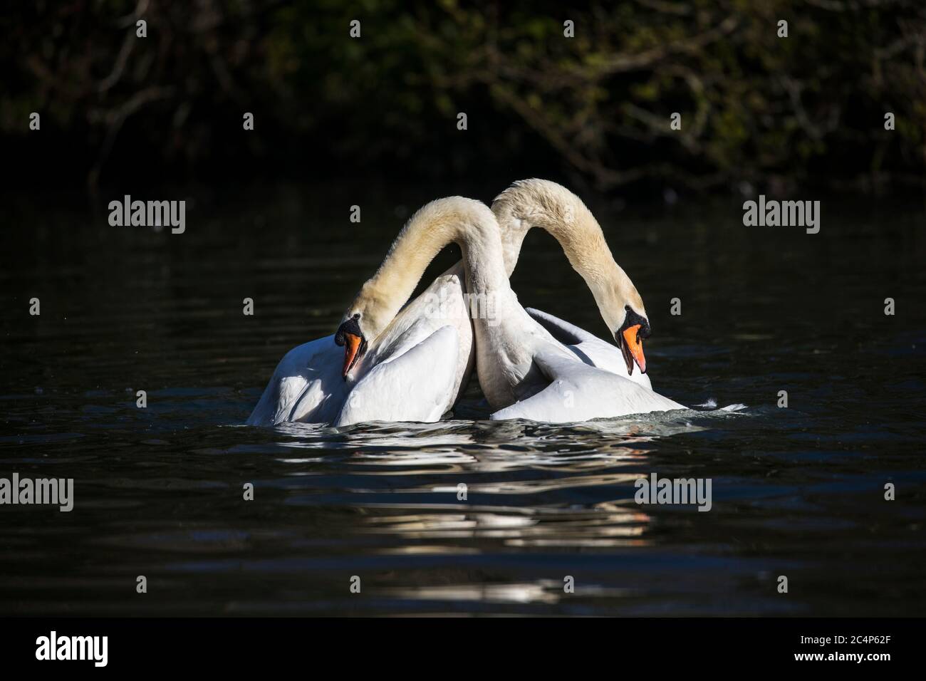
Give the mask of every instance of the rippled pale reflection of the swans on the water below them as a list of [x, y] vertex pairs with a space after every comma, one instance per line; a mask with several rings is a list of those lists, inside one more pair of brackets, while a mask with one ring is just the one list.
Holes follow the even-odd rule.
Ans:
[[[337, 474], [342, 479], [338, 503], [359, 511], [351, 534], [368, 537], [370, 554], [437, 559], [651, 546], [657, 523], [646, 507], [634, 503], [633, 483], [650, 473], [659, 441], [737, 416], [735, 411], [677, 410], [566, 426], [464, 420], [347, 428], [283, 423], [274, 433], [284, 435], [277, 445], [293, 452], [277, 460], [305, 483], [288, 503], [319, 503], [315, 493], [325, 490], [316, 489], [312, 477], [325, 475], [330, 486], [330, 476]], [[322, 455], [306, 456], [312, 450]], [[400, 581], [404, 584], [387, 589], [395, 598], [551, 602], [563, 595], [561, 583], [486, 584], [465, 569], [458, 584], [416, 583], [414, 572]], [[605, 587], [583, 582], [576, 593], [591, 595], [596, 588]], [[607, 589], [619, 595], [620, 589]]]

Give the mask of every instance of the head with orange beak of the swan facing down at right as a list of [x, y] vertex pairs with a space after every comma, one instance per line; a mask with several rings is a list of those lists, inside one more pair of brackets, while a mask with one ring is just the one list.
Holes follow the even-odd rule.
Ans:
[[617, 267], [617, 273], [611, 278], [611, 284], [595, 293], [598, 309], [607, 323], [607, 328], [614, 334], [614, 340], [620, 348], [624, 361], [627, 362], [628, 375], [633, 373], [633, 364], [646, 372], [646, 358], [643, 354], [644, 338], [649, 337], [649, 319], [643, 298], [623, 270]]

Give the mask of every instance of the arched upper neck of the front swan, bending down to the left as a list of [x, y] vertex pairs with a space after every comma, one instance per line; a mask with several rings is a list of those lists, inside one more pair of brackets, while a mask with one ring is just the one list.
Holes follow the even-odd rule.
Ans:
[[375, 333], [392, 321], [432, 259], [451, 243], [463, 251], [471, 289], [507, 288], [501, 236], [492, 211], [480, 201], [461, 196], [432, 201], [407, 221], [379, 270], [361, 289], [358, 299], [375, 303], [378, 322], [371, 322]]

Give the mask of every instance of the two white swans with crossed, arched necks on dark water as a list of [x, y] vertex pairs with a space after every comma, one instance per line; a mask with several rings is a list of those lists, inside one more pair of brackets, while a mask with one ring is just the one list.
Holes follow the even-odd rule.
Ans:
[[[562, 246], [617, 347], [520, 306], [508, 277], [532, 227]], [[463, 259], [403, 308], [451, 243]], [[283, 357], [248, 423], [435, 422], [456, 403], [474, 364], [492, 419], [581, 422], [684, 409], [652, 390], [648, 334], [642, 298], [592, 213], [565, 187], [515, 183], [491, 209], [442, 198], [407, 221], [337, 333]]]

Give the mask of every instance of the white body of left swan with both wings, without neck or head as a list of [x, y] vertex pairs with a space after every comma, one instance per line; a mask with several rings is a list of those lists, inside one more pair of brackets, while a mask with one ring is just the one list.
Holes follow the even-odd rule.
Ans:
[[[370, 343], [345, 381], [334, 335], [286, 353], [249, 425], [282, 422], [435, 422], [454, 405], [472, 369], [472, 324], [461, 264], [444, 272]], [[432, 314], [434, 300], [445, 301]]]

